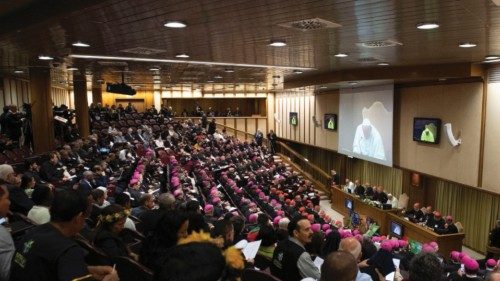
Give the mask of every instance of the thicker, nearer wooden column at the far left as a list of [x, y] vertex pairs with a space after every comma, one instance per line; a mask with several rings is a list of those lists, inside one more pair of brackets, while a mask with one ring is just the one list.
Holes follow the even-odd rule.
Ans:
[[49, 152], [55, 147], [49, 67], [30, 68], [30, 89], [33, 147], [36, 154]]

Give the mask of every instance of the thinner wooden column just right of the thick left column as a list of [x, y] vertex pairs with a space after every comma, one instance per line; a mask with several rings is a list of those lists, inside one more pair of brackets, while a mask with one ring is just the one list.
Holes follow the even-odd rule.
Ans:
[[89, 104], [87, 101], [87, 81], [84, 75], [73, 76], [75, 93], [76, 124], [80, 137], [86, 138], [90, 133]]

